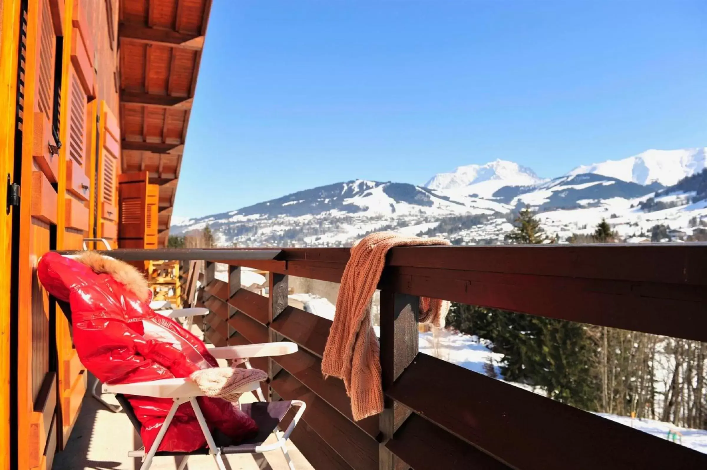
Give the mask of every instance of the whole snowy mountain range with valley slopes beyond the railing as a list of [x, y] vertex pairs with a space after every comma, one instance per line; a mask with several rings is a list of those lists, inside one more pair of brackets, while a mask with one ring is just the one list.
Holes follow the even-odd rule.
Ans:
[[[665, 225], [660, 239], [670, 226], [680, 239], [707, 240], [707, 171], [700, 172], [706, 150], [646, 151], [552, 180], [504, 160], [440, 173], [425, 187], [351, 180], [237, 211], [175, 218], [171, 233], [208, 225], [223, 246], [346, 246], [378, 230], [498, 243], [513, 229], [515, 212], [530, 205], [547, 233], [560, 240], [592, 233], [602, 218], [634, 241], [655, 238], [656, 225]], [[676, 178], [679, 184], [672, 183]]]

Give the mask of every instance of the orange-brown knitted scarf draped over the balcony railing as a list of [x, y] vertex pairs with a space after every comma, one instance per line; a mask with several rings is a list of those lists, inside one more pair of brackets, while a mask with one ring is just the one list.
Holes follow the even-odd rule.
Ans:
[[[322, 373], [344, 380], [351, 397], [351, 413], [358, 421], [383, 410], [380, 346], [373, 331], [370, 304], [380, 279], [385, 255], [392, 247], [450, 245], [441, 238], [373, 233], [351, 247], [337, 298], [337, 310], [322, 358]], [[444, 326], [449, 302], [420, 298], [421, 323]]]

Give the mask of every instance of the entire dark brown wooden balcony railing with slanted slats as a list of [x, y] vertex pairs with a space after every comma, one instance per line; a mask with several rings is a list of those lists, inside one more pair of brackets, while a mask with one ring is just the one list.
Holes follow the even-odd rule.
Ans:
[[[399, 247], [379, 284], [385, 411], [354, 422], [321, 358], [331, 321], [288, 305], [288, 276], [339, 282], [349, 249], [107, 252], [206, 261], [206, 339], [287, 339], [291, 356], [254, 360], [271, 399], [308, 407], [292, 440], [317, 469], [707, 469], [707, 454], [633, 430], [418, 352], [417, 298], [443, 298], [707, 341], [707, 245]], [[228, 264], [229, 282], [214, 277]], [[269, 271], [269, 297], [240, 288], [240, 267]]]

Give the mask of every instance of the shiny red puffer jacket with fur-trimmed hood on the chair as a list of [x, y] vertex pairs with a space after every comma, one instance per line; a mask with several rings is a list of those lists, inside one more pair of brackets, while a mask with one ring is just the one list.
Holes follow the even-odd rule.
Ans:
[[[78, 358], [101, 382], [127, 384], [189, 377], [217, 367], [196, 336], [148, 307], [149, 288], [136, 269], [87, 252], [69, 259], [49, 252], [37, 264], [37, 276], [55, 298], [69, 302]], [[172, 399], [127, 396], [142, 424], [146, 449], [165, 421]], [[209, 427], [238, 442], [257, 433], [255, 421], [230, 402], [200, 396]], [[160, 444], [160, 451], [190, 452], [206, 446], [194, 410], [182, 404]]]

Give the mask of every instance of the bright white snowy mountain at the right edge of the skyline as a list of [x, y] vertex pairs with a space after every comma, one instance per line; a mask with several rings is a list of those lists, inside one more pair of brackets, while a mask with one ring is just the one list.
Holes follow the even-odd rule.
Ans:
[[671, 186], [705, 168], [707, 168], [707, 147], [699, 147], [680, 150], [647, 150], [623, 160], [581, 165], [567, 175], [596, 173], [638, 184], [659, 182]]

